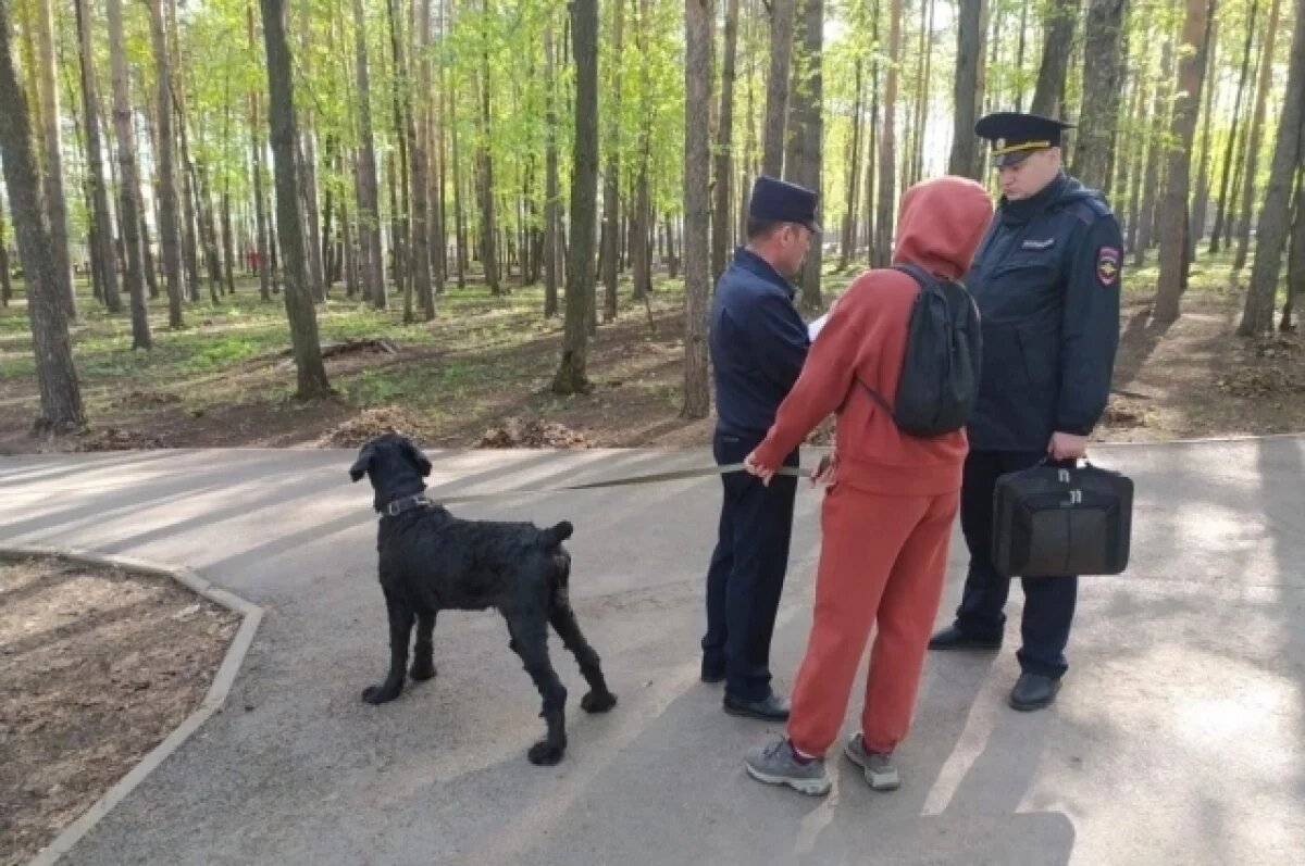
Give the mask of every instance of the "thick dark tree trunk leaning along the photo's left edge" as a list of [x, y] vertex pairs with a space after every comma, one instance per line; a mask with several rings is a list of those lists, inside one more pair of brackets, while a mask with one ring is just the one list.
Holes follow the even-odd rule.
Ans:
[[[85, 426], [86, 415], [68, 336], [67, 296], [56, 274], [55, 241], [40, 201], [40, 179], [31, 150], [27, 104], [9, 47], [10, 33], [9, 0], [0, 0], [0, 160], [4, 162], [5, 184], [13, 207], [18, 258], [22, 261], [27, 287], [27, 320], [31, 322], [37, 356], [40, 413], [37, 416], [35, 429], [39, 433], [69, 433]], [[8, 270], [8, 262], [0, 263]]]

